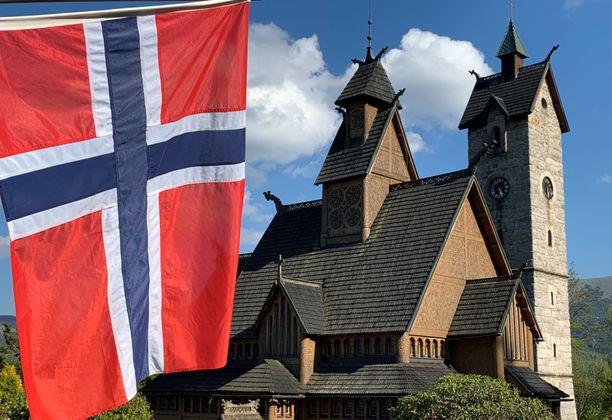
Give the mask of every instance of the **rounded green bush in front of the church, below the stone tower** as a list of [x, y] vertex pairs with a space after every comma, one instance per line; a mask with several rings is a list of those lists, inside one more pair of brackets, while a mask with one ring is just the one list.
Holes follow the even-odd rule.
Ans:
[[503, 380], [481, 375], [448, 375], [431, 391], [408, 395], [391, 409], [394, 419], [553, 420], [540, 400], [521, 397]]

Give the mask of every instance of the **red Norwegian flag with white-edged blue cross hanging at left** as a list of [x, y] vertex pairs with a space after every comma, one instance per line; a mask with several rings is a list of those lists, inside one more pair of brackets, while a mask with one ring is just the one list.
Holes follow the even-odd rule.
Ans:
[[0, 31], [0, 190], [35, 419], [225, 365], [238, 262], [248, 3], [68, 23]]

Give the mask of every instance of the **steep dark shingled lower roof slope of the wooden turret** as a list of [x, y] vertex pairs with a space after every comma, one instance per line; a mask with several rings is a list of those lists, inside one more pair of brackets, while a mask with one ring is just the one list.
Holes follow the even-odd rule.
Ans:
[[391, 106], [378, 110], [369, 135], [363, 143], [357, 145], [345, 144], [343, 123], [327, 153], [315, 184], [366, 175], [395, 109], [395, 106]]

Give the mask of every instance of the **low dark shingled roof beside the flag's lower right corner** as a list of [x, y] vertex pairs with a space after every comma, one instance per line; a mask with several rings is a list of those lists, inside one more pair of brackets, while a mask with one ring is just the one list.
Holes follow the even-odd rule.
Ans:
[[155, 393], [215, 392], [227, 394], [303, 395], [299, 381], [278, 360], [237, 362], [217, 370], [159, 375], [143, 391]]

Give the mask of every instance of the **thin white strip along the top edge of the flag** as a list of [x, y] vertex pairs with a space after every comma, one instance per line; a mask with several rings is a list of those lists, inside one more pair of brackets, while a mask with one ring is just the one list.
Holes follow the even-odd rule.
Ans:
[[92, 10], [85, 12], [56, 13], [49, 15], [0, 17], [0, 31], [39, 29], [52, 26], [65, 26], [103, 20], [119, 19], [128, 16], [143, 16], [155, 13], [186, 12], [209, 7], [231, 6], [248, 3], [251, 0], [200, 0], [189, 3], [164, 4], [147, 7], [126, 7], [122, 9]]

